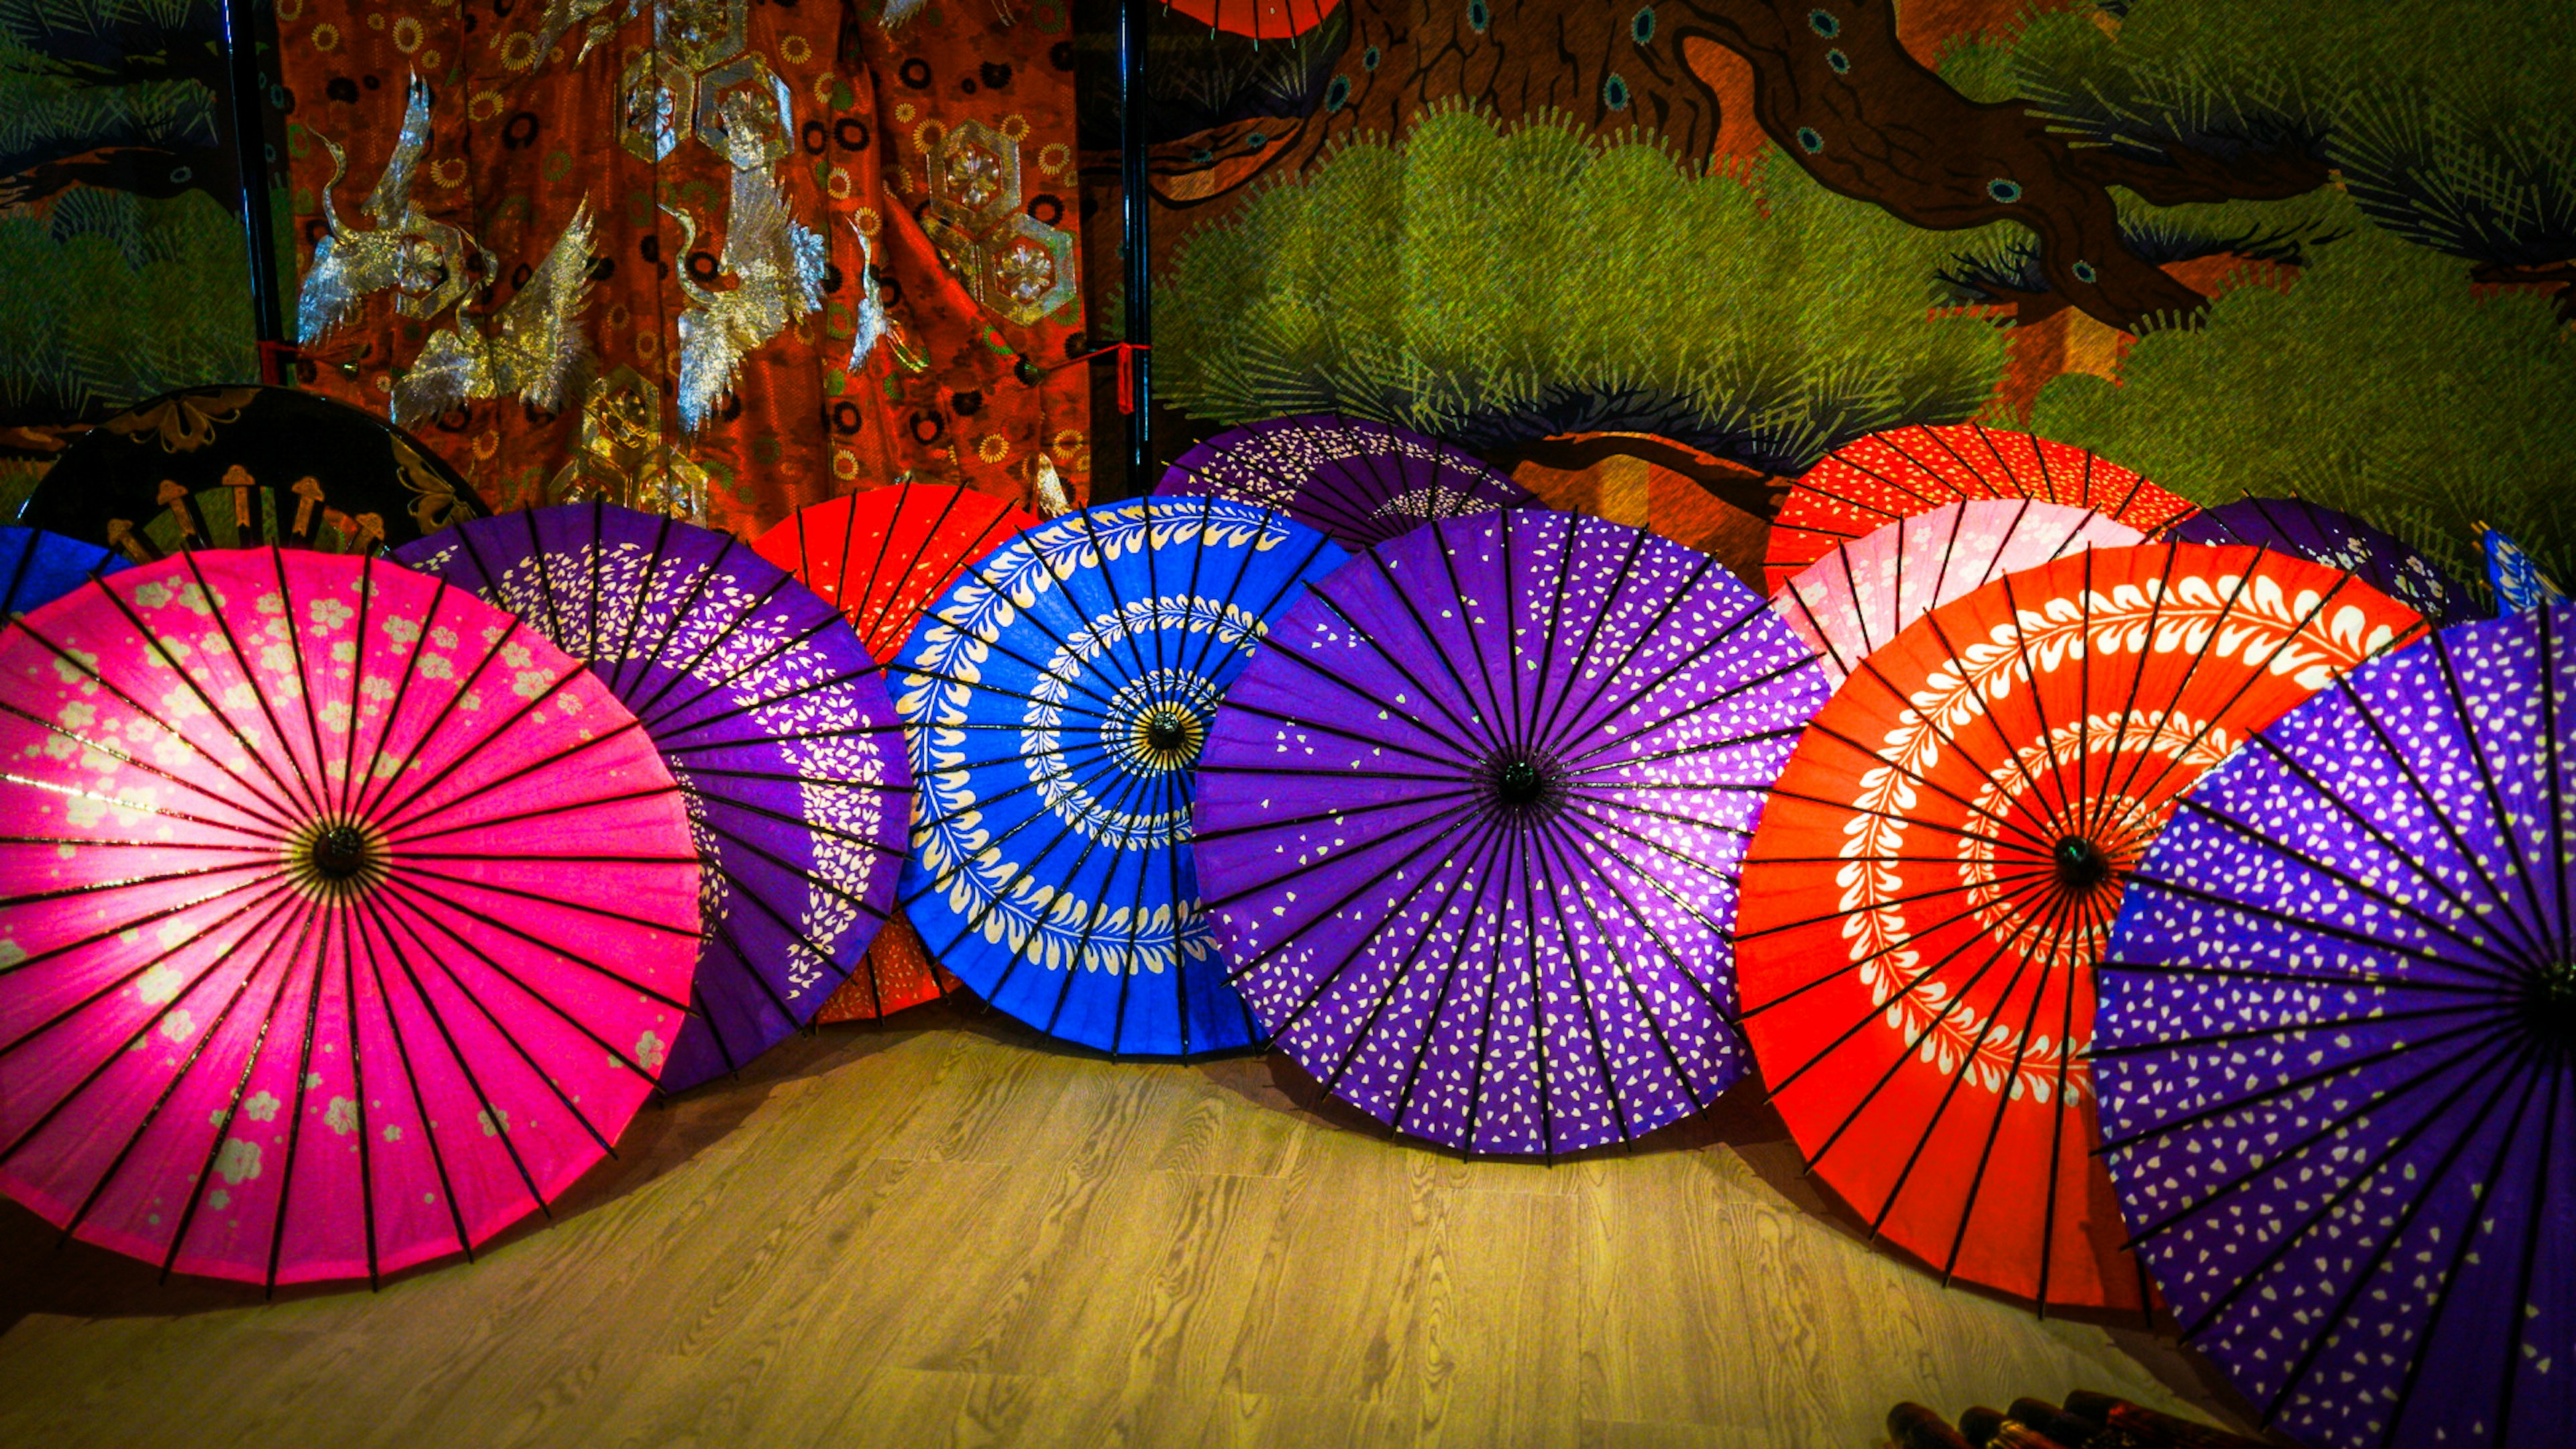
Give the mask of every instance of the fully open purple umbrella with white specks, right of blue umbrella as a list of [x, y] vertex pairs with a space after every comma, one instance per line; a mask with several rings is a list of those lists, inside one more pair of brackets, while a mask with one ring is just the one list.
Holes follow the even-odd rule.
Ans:
[[1816, 655], [1716, 559], [1515, 511], [1311, 585], [1226, 694], [1198, 871], [1262, 1029], [1466, 1152], [1571, 1152], [1741, 1070], [1736, 864]]

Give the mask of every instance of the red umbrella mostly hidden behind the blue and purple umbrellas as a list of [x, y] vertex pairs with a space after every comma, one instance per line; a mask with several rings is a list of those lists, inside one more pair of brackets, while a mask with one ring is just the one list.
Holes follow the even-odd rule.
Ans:
[[[956, 583], [966, 565], [1036, 523], [1010, 503], [971, 487], [896, 482], [850, 498], [799, 508], [752, 549], [829, 598], [886, 663], [922, 608]], [[902, 913], [886, 920], [860, 969], [850, 972], [817, 1021], [866, 1021], [920, 1006], [956, 987]]]

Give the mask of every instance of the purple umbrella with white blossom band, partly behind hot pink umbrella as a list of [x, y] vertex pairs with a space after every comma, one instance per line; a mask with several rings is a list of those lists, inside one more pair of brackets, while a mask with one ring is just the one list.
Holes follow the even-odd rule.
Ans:
[[587, 660], [680, 781], [706, 941], [662, 1088], [811, 1021], [894, 908], [912, 815], [902, 722], [850, 621], [729, 534], [605, 503], [479, 518], [394, 557]]

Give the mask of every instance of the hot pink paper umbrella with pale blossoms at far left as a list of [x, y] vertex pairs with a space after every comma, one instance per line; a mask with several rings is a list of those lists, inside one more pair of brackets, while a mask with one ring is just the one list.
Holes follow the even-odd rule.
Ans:
[[0, 1191], [67, 1235], [471, 1250], [608, 1152], [696, 959], [652, 740], [471, 593], [191, 552], [0, 629]]

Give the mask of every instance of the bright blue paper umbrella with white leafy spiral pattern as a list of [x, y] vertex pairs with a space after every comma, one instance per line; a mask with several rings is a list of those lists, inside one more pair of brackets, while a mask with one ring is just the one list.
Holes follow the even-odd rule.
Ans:
[[930, 954], [1066, 1042], [1255, 1042], [1198, 905], [1198, 750], [1270, 621], [1342, 557], [1278, 513], [1151, 498], [974, 565], [894, 670], [917, 786], [902, 900]]

